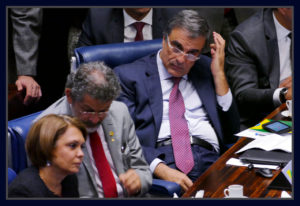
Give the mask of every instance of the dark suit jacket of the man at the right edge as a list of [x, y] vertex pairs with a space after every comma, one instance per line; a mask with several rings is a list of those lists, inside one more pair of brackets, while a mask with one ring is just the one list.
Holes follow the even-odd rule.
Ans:
[[279, 51], [272, 9], [263, 9], [230, 36], [226, 75], [236, 98], [241, 123], [247, 127], [275, 109], [279, 86]]

